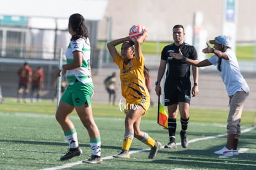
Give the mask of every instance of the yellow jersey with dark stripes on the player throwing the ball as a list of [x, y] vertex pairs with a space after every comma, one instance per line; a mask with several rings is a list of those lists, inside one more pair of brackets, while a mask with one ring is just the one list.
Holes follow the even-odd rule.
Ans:
[[139, 104], [147, 111], [150, 95], [143, 74], [144, 57], [140, 56], [139, 60], [134, 57], [124, 64], [124, 60], [117, 53], [114, 62], [120, 69], [122, 96], [126, 98], [126, 104]]

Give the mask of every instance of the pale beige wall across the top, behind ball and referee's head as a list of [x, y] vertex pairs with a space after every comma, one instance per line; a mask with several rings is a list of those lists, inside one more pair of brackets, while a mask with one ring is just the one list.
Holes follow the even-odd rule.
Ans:
[[[256, 15], [254, 0], [236, 0], [238, 42], [256, 40]], [[128, 35], [134, 24], [143, 24], [148, 29], [148, 40], [171, 41], [172, 28], [176, 24], [193, 25], [195, 12], [203, 14], [203, 28], [208, 31], [208, 40], [222, 34], [224, 0], [109, 0], [105, 18], [100, 22], [100, 40], [108, 40], [109, 17], [112, 19], [113, 39]]]

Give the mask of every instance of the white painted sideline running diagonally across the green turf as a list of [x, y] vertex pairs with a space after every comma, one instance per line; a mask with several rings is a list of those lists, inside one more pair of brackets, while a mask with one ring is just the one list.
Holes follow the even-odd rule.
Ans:
[[[253, 126], [253, 127], [249, 127], [247, 129], [244, 129], [244, 130], [241, 130], [241, 133], [246, 133], [246, 132], [249, 132], [250, 130], [254, 130], [256, 127]], [[217, 137], [224, 137], [226, 136], [227, 134], [220, 134], [220, 135], [215, 135], [215, 136], [210, 136], [210, 137], [203, 137], [203, 138], [194, 138], [192, 140], [189, 140], [189, 143], [194, 143], [194, 142], [198, 142], [200, 140], [208, 140], [208, 139], [211, 139], [211, 138], [217, 138]], [[181, 145], [181, 143], [176, 143], [177, 145]], [[162, 146], [161, 148], [163, 148], [164, 146]], [[246, 148], [241, 148], [241, 153], [242, 152], [245, 152], [247, 151], [248, 149]], [[143, 149], [143, 150], [134, 150], [134, 151], [130, 151], [130, 155], [134, 154], [134, 153], [139, 153], [139, 152], [142, 152], [142, 151], [148, 151], [150, 150], [149, 148], [148, 149]], [[240, 152], [240, 150], [239, 150]], [[113, 156], [105, 156], [104, 158], [102, 158], [103, 160], [104, 159], [113, 159], [114, 157]], [[55, 167], [52, 167], [52, 168], [45, 168], [45, 169], [41, 169], [41, 170], [57, 170], [57, 169], [64, 169], [64, 168], [70, 168], [72, 166], [75, 166], [75, 165], [78, 165], [78, 164], [83, 164], [82, 161], [77, 161], [75, 163], [67, 163], [67, 164], [63, 164], [61, 166], [55, 166]]]

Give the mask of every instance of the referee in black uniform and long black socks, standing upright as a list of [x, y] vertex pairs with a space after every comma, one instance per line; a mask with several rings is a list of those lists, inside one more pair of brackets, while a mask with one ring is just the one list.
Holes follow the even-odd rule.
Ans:
[[[173, 27], [174, 43], [163, 48], [161, 61], [158, 69], [157, 80], [155, 82], [156, 95], [161, 95], [161, 79], [163, 78], [166, 64], [166, 80], [164, 83], [164, 106], [168, 106], [168, 131], [169, 143], [164, 148], [177, 148], [176, 146], [176, 127], [177, 113], [181, 115], [181, 145], [187, 148], [187, 126], [189, 124], [189, 104], [190, 91], [192, 96], [198, 94], [198, 68], [192, 66], [193, 85], [190, 82], [190, 64], [182, 60], [174, 59], [169, 53], [182, 53], [189, 59], [197, 60], [197, 51], [194, 46], [184, 43], [184, 27], [175, 25]], [[192, 88], [191, 88], [192, 87]]]

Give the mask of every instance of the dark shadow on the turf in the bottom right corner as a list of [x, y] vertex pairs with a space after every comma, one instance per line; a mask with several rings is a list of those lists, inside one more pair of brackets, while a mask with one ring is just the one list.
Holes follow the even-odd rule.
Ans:
[[166, 155], [166, 159], [152, 161], [135, 161], [136, 163], [171, 164], [171, 167], [200, 169], [255, 169], [255, 154], [241, 153], [238, 157], [218, 158], [208, 150], [171, 151], [160, 150], [158, 155]]

